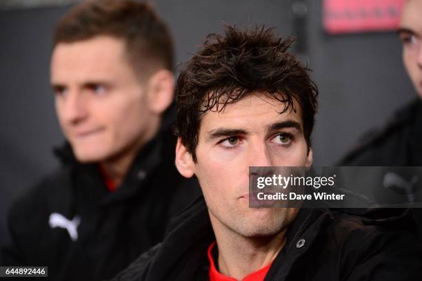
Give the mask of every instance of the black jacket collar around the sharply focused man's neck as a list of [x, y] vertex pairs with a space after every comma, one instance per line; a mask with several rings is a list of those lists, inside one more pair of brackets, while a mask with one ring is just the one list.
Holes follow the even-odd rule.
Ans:
[[[331, 220], [332, 214], [328, 209], [299, 211], [288, 229], [283, 249], [283, 254], [289, 257], [289, 264], [307, 251]], [[306, 239], [305, 246], [302, 251], [296, 251], [297, 242], [303, 238]], [[208, 209], [201, 196], [170, 222], [165, 239], [150, 264], [147, 279], [168, 280], [171, 276], [172, 280], [195, 280], [206, 262], [208, 246], [214, 240]], [[286, 261], [283, 254], [274, 260], [268, 275], [279, 273], [278, 269]]]

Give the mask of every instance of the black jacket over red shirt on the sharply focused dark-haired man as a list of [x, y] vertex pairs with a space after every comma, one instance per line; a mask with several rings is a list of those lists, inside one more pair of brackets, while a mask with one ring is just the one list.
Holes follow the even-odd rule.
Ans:
[[[345, 211], [299, 211], [265, 281], [422, 280], [422, 249], [408, 210], [372, 210], [365, 217], [352, 214], [362, 210]], [[206, 251], [213, 241], [201, 197], [172, 220], [161, 244], [112, 281], [208, 280]]]

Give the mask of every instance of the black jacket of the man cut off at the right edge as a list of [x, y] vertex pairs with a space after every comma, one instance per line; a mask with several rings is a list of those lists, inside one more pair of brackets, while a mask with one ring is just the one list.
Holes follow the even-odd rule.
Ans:
[[[365, 133], [337, 166], [422, 166], [422, 102], [398, 110], [382, 130]], [[383, 187], [380, 177], [379, 188]], [[422, 209], [412, 209], [422, 242]]]

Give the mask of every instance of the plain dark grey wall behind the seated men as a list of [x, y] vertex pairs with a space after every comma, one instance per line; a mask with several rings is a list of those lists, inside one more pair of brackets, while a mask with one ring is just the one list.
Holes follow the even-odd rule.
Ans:
[[[49, 63], [52, 30], [70, 7], [18, 8], [7, 2], [11, 7], [0, 9], [0, 244], [9, 239], [10, 204], [58, 164], [52, 147], [63, 136], [54, 113]], [[152, 3], [173, 32], [178, 63], [190, 58], [205, 35], [221, 32], [224, 22], [246, 27], [263, 23], [279, 35], [297, 37], [294, 50], [314, 70], [320, 90], [315, 165], [333, 165], [362, 133], [382, 126], [394, 109], [416, 97], [396, 33], [329, 35], [322, 24], [322, 0]]]

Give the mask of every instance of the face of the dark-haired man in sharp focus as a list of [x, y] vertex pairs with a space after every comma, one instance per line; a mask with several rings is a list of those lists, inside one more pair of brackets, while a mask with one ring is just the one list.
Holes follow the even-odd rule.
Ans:
[[298, 210], [292, 208], [249, 208], [249, 166], [312, 163], [299, 106], [296, 113], [279, 114], [282, 108], [280, 101], [254, 93], [220, 113], [203, 115], [197, 162], [191, 157], [189, 163], [216, 233], [225, 229], [245, 238], [267, 237], [280, 233], [296, 217]]

